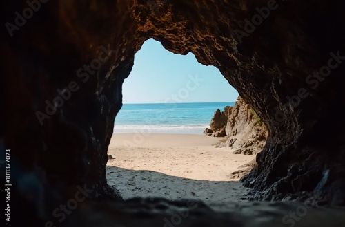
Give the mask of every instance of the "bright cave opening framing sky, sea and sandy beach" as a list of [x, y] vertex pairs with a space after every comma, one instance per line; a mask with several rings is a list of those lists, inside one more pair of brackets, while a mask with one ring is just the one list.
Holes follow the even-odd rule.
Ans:
[[[237, 136], [237, 126], [227, 136], [225, 114], [226, 120], [217, 122], [223, 124], [223, 134], [203, 135], [215, 111], [225, 113], [224, 108], [233, 108], [238, 97], [217, 68], [201, 65], [191, 53], [172, 54], [149, 39], [135, 55], [122, 96], [108, 148], [106, 177], [124, 199], [191, 198], [219, 203], [244, 198], [248, 189], [239, 184], [239, 175], [232, 174], [246, 169], [256, 153], [250, 149], [239, 152], [238, 146], [235, 153], [226, 144], [229, 136]], [[254, 125], [258, 124], [253, 109], [241, 108], [246, 112], [242, 118], [251, 116]], [[254, 132], [251, 125], [246, 127], [250, 128], [247, 134]], [[246, 142], [250, 140], [255, 138]]]

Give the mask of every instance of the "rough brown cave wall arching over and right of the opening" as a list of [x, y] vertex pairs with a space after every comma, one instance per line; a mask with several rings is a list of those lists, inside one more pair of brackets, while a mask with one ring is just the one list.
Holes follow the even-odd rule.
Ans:
[[215, 65], [268, 127], [258, 167], [242, 180], [252, 197], [312, 191], [344, 204], [344, 3], [155, 2], [135, 2], [139, 35]]

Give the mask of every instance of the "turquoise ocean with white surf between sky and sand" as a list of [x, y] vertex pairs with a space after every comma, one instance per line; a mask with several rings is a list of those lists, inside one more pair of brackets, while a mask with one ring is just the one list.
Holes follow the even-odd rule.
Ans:
[[235, 102], [124, 104], [115, 118], [114, 133], [202, 134], [217, 109]]

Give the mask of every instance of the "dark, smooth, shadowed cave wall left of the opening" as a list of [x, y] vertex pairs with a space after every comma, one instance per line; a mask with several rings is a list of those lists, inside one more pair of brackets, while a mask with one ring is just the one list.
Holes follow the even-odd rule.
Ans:
[[90, 197], [118, 197], [106, 184], [105, 166], [136, 52], [129, 3], [40, 2], [20, 27], [14, 12], [28, 4], [1, 3], [6, 23], [17, 26], [1, 33], [1, 75], [4, 147], [18, 173], [45, 172], [44, 184], [58, 192], [89, 184]]

